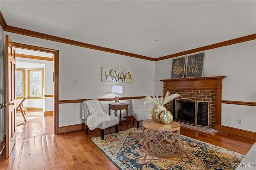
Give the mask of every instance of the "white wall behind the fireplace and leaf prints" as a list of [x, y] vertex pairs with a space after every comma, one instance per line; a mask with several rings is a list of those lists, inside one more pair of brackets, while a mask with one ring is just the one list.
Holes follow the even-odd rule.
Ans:
[[[204, 77], [227, 76], [222, 100], [256, 102], [256, 40], [202, 52]], [[163, 95], [160, 79], [170, 79], [172, 59], [156, 61], [155, 67], [155, 94]], [[242, 125], [238, 119], [243, 119]], [[222, 125], [256, 132], [256, 107], [222, 104]]]

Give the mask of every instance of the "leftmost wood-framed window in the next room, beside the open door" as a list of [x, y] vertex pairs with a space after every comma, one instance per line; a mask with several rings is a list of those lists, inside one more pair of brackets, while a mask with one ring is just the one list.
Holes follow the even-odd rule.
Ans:
[[23, 99], [26, 96], [25, 76], [25, 69], [15, 70], [16, 99]]

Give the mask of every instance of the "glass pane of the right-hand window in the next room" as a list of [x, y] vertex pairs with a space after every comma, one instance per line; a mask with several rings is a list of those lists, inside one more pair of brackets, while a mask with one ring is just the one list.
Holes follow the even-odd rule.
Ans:
[[42, 97], [42, 70], [30, 71], [30, 97]]

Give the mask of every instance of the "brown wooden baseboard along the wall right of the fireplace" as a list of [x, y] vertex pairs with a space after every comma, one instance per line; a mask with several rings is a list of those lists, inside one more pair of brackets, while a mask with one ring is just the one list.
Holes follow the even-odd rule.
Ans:
[[251, 138], [251, 139], [256, 140], [256, 132], [251, 132], [251, 131], [248, 131], [248, 130], [242, 130], [242, 129], [233, 128], [233, 127], [226, 127], [226, 126], [222, 125], [222, 132], [236, 134], [238, 136], [242, 136], [242, 137]]

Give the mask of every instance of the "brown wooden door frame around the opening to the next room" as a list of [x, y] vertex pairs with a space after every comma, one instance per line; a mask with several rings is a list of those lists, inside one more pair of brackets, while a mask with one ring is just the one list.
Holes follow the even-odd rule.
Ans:
[[59, 134], [59, 50], [13, 42], [16, 48], [54, 54], [54, 134]]

